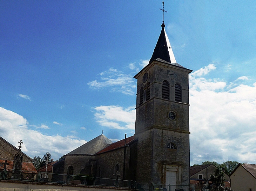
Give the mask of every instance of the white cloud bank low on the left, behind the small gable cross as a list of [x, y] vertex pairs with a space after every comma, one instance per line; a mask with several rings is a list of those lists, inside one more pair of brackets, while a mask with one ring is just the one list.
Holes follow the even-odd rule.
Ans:
[[31, 130], [28, 128], [28, 122], [25, 118], [1, 107], [0, 132], [2, 138], [16, 147], [19, 146], [18, 141], [22, 140], [21, 150], [28, 156], [42, 156], [49, 152], [55, 160], [87, 142], [72, 136], [62, 137], [58, 134], [50, 136]]

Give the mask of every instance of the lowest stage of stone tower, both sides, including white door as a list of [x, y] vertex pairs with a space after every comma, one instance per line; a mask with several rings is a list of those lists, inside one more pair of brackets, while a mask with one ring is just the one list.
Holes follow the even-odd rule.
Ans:
[[137, 184], [189, 185], [189, 133], [153, 128], [135, 138]]

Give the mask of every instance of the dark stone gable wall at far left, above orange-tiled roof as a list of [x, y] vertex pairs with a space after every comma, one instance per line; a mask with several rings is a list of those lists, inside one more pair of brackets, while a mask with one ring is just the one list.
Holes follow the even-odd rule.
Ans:
[[[18, 153], [18, 148], [9, 144], [6, 140], [0, 137], [0, 159], [14, 160], [14, 155]], [[32, 162], [32, 159], [21, 152], [23, 155], [23, 162]]]

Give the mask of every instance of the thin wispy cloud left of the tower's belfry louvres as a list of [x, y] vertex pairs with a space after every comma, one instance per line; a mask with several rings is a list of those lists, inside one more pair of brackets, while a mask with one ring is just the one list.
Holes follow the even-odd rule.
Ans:
[[105, 87], [112, 87], [112, 91], [119, 91], [123, 94], [134, 95], [136, 88], [133, 76], [117, 71], [117, 69], [110, 68], [105, 72], [99, 74], [100, 81], [94, 80], [87, 85], [94, 89], [103, 89]]

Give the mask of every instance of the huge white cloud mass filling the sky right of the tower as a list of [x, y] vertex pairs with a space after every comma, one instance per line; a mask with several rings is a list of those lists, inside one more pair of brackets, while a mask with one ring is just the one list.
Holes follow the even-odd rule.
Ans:
[[201, 68], [189, 79], [191, 165], [206, 160], [256, 163], [256, 83], [230, 86], [201, 77], [213, 69]]

